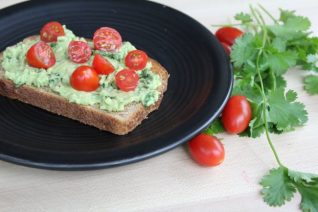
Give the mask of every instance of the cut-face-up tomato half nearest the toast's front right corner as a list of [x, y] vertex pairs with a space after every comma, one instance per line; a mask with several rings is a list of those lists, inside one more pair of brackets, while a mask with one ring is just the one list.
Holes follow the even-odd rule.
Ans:
[[138, 85], [139, 76], [134, 70], [123, 69], [116, 74], [115, 82], [120, 90], [133, 91]]

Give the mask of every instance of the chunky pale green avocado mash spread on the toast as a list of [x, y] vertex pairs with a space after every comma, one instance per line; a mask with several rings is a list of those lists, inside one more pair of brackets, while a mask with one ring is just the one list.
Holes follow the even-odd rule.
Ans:
[[[91, 65], [93, 56], [86, 64], [76, 64], [68, 59], [67, 48], [72, 40], [85, 40], [76, 37], [72, 31], [65, 28], [65, 36], [58, 37], [56, 43], [51, 43], [55, 53], [56, 64], [49, 68], [37, 69], [29, 66], [25, 59], [28, 49], [39, 40], [20, 42], [13, 47], [8, 47], [3, 53], [2, 67], [5, 77], [12, 80], [16, 86], [29, 85], [57, 93], [70, 102], [82, 105], [91, 105], [106, 111], [123, 111], [125, 105], [140, 102], [144, 106], [154, 104], [160, 93], [157, 88], [161, 85], [159, 75], [151, 71], [152, 64], [148, 62], [144, 70], [137, 71], [140, 79], [134, 91], [124, 92], [119, 90], [114, 77], [117, 72], [125, 68], [124, 58], [135, 47], [129, 42], [123, 42], [115, 53], [94, 51], [105, 57], [115, 67], [115, 72], [100, 76], [100, 87], [93, 92], [82, 92], [73, 89], [69, 83], [73, 71], [80, 65]], [[89, 42], [89, 45], [93, 44]]]

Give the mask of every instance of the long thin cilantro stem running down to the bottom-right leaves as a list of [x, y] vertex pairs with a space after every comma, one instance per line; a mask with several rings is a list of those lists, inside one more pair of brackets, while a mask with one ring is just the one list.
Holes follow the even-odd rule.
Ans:
[[265, 125], [265, 134], [266, 134], [266, 138], [267, 138], [267, 141], [268, 141], [268, 144], [275, 156], [275, 159], [278, 163], [279, 166], [281, 167], [285, 167], [282, 162], [280, 161], [279, 157], [278, 157], [278, 154], [276, 152], [276, 149], [273, 145], [273, 142], [270, 138], [270, 135], [269, 135], [269, 129], [268, 129], [268, 123], [267, 123], [267, 111], [266, 111], [266, 108], [267, 108], [267, 105], [268, 105], [268, 102], [267, 102], [267, 98], [266, 98], [266, 95], [265, 95], [265, 89], [264, 89], [264, 83], [263, 83], [263, 79], [262, 79], [262, 76], [261, 76], [261, 72], [260, 72], [260, 69], [259, 69], [259, 62], [260, 62], [260, 58], [264, 52], [264, 48], [266, 46], [266, 42], [268, 40], [268, 32], [267, 32], [267, 28], [266, 28], [266, 24], [265, 24], [265, 21], [262, 17], [262, 15], [256, 11], [252, 6], [250, 6], [250, 10], [251, 10], [251, 14], [253, 15], [253, 17], [255, 18], [255, 20], [260, 24], [260, 26], [262, 27], [262, 31], [263, 31], [263, 41], [262, 41], [262, 46], [259, 48], [259, 52], [257, 54], [257, 58], [256, 58], [256, 71], [257, 71], [257, 75], [259, 77], [259, 81], [260, 81], [260, 85], [261, 85], [261, 95], [262, 95], [262, 98], [263, 98], [263, 116], [264, 116], [264, 125]]

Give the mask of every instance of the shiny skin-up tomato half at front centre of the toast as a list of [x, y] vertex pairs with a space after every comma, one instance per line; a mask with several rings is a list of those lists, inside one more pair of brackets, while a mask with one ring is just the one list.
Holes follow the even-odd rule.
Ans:
[[73, 72], [70, 84], [78, 91], [95, 91], [99, 87], [99, 76], [90, 66], [80, 66]]

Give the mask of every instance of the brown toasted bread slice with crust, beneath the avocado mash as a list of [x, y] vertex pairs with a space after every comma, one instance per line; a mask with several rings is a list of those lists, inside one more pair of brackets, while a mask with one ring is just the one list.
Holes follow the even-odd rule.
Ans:
[[[34, 39], [34, 36], [26, 39]], [[149, 107], [144, 107], [141, 103], [134, 102], [126, 105], [125, 110], [122, 112], [108, 112], [93, 106], [70, 103], [64, 97], [44, 89], [27, 85], [16, 87], [11, 80], [5, 78], [5, 71], [1, 67], [2, 60], [3, 54], [0, 53], [0, 95], [17, 99], [118, 135], [125, 135], [131, 132], [147, 118], [149, 113], [157, 110], [168, 86], [169, 74], [167, 70], [157, 61], [149, 59], [152, 63], [152, 71], [157, 73], [162, 79], [162, 84], [158, 87], [158, 91], [160, 92], [158, 101]]]

